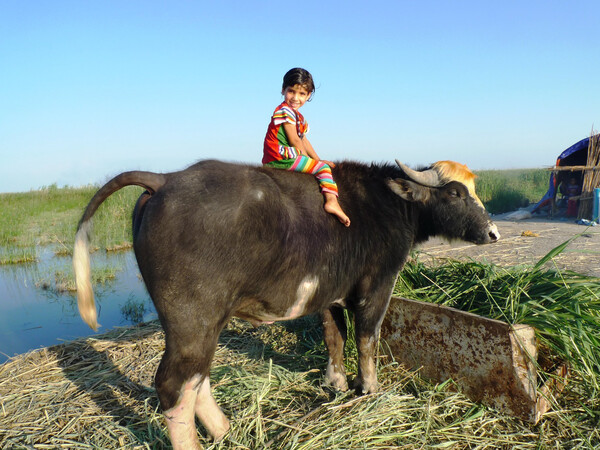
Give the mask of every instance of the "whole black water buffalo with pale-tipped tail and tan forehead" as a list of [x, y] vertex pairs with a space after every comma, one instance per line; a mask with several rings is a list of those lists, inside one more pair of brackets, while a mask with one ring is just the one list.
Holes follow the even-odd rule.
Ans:
[[258, 325], [320, 313], [330, 355], [325, 381], [344, 390], [342, 308], [351, 309], [359, 351], [355, 387], [374, 392], [380, 325], [411, 248], [430, 236], [476, 244], [499, 237], [466, 166], [440, 162], [421, 172], [401, 163], [342, 162], [333, 175], [349, 228], [323, 210], [314, 177], [220, 161], [168, 174], [126, 172], [88, 204], [73, 262], [81, 316], [96, 329], [89, 221], [118, 189], [146, 189], [134, 210], [133, 241], [165, 331], [155, 384], [174, 448], [198, 445], [194, 414], [215, 439], [229, 429], [212, 397], [209, 370], [231, 317]]

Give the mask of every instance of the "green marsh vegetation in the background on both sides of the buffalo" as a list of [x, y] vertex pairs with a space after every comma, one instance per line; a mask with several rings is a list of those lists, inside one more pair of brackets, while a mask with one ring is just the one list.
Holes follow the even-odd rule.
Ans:
[[[537, 202], [546, 192], [544, 169], [476, 172], [477, 193], [492, 214]], [[38, 259], [40, 246], [54, 245], [59, 254], [72, 251], [77, 223], [98, 186], [49, 186], [37, 191], [0, 194], [0, 264]], [[142, 189], [129, 186], [111, 195], [94, 216], [92, 246], [108, 249], [131, 245], [131, 212]]]

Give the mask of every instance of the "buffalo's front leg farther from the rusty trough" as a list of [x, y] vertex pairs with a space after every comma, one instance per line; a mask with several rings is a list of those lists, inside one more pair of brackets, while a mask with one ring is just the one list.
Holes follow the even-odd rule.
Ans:
[[347, 330], [342, 308], [333, 306], [321, 314], [323, 322], [323, 339], [329, 352], [325, 384], [333, 388], [346, 391], [348, 382], [344, 368], [344, 346], [346, 344]]

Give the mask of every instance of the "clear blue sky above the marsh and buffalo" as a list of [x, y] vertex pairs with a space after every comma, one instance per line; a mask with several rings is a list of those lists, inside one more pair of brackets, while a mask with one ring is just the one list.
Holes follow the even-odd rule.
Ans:
[[0, 0], [0, 192], [259, 164], [281, 79], [324, 159], [544, 167], [600, 127], [597, 1]]

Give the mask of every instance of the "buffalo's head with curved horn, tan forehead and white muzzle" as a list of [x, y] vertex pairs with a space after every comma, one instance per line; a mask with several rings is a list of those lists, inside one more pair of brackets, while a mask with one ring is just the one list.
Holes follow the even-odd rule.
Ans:
[[[396, 163], [410, 180], [393, 180], [390, 187], [408, 201], [435, 205], [436, 228], [451, 239], [477, 244], [495, 242], [500, 233], [475, 194], [476, 175], [464, 164], [438, 161], [431, 168], [417, 171], [400, 161]], [[443, 223], [442, 223], [443, 222]]]

